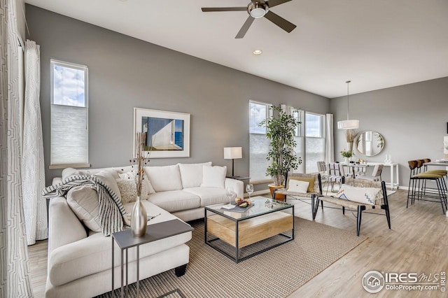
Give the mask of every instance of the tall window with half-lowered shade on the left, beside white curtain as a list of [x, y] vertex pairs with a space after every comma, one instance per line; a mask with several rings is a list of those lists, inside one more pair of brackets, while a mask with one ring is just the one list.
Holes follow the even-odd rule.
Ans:
[[87, 66], [50, 60], [50, 169], [88, 164]]

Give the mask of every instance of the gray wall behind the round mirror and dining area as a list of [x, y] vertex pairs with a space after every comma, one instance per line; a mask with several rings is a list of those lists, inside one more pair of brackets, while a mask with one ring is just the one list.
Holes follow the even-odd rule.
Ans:
[[[353, 81], [352, 84], [356, 84]], [[346, 97], [330, 100], [330, 111], [338, 120], [346, 119]], [[400, 185], [409, 184], [407, 161], [443, 158], [443, 137], [447, 136], [448, 77], [383, 90], [350, 95], [350, 118], [360, 121], [359, 131], [374, 130], [384, 136], [384, 150], [366, 157], [370, 162], [400, 164]], [[335, 159], [346, 148], [343, 131], [335, 129]], [[357, 154], [356, 157], [362, 157]], [[383, 178], [389, 179], [388, 170]]]

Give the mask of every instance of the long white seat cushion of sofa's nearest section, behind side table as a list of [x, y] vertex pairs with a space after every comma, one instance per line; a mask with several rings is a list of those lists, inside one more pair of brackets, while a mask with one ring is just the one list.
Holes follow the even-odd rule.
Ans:
[[[150, 220], [151, 225], [176, 219], [176, 217], [149, 201], [142, 201], [146, 210], [151, 213], [161, 213], [158, 217]], [[125, 210], [130, 212], [133, 203], [125, 205]], [[179, 234], [159, 241], [153, 241], [140, 246], [139, 257], [143, 259], [148, 255], [154, 255], [161, 251], [169, 250], [191, 239], [191, 232]], [[64, 285], [84, 276], [90, 276], [111, 269], [111, 237], [104, 237], [102, 233], [95, 233], [85, 239], [69, 243], [56, 248], [50, 253], [48, 262], [48, 276], [50, 283], [54, 286]], [[137, 258], [135, 249], [129, 250], [129, 262]], [[120, 266], [120, 248], [115, 245], [115, 264]]]

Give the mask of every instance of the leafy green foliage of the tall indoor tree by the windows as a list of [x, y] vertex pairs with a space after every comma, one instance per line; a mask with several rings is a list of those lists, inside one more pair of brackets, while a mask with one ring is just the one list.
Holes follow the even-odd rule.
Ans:
[[284, 187], [286, 173], [302, 164], [302, 159], [295, 155], [297, 143], [294, 139], [300, 122], [280, 106], [271, 108], [272, 116], [260, 122], [260, 126], [266, 127], [270, 147], [266, 159], [271, 161], [271, 165], [267, 167], [266, 174], [273, 178], [274, 187]]

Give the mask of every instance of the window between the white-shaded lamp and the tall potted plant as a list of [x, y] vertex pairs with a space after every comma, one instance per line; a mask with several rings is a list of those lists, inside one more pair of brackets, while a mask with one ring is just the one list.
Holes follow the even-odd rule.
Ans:
[[270, 104], [249, 101], [249, 174], [251, 182], [269, 180], [266, 169], [269, 162], [266, 159], [269, 151], [269, 140], [266, 138], [266, 127], [258, 126], [262, 120], [269, 117], [272, 110]]

